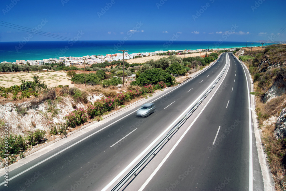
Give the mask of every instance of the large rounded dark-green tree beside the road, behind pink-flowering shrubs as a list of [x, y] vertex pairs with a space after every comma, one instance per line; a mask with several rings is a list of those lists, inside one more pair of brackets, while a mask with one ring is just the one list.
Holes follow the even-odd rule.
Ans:
[[165, 82], [167, 86], [171, 86], [174, 85], [175, 78], [161, 68], [142, 71], [138, 78], [136, 78], [136, 83], [141, 86], [156, 84], [161, 81]]

